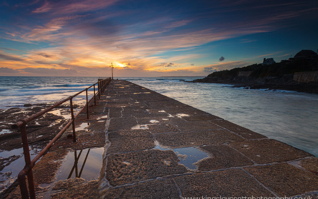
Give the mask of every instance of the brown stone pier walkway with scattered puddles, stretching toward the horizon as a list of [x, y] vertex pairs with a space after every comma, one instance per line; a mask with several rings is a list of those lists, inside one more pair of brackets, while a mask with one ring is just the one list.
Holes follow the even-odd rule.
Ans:
[[78, 118], [78, 142], [64, 133], [34, 167], [38, 197], [318, 195], [318, 159], [305, 151], [131, 82], [103, 94]]

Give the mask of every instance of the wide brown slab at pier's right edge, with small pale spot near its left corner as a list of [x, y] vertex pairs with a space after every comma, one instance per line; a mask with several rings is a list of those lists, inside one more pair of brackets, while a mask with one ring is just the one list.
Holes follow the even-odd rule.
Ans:
[[229, 145], [259, 164], [313, 156], [274, 139], [246, 140], [243, 142], [232, 142]]

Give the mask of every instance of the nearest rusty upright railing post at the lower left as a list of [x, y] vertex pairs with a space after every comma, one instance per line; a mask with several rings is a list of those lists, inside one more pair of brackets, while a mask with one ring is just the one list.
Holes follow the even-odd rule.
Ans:
[[[20, 121], [23, 122], [23, 125], [21, 126], [20, 130], [21, 130], [21, 139], [22, 139], [25, 167], [27, 167], [27, 166], [31, 166], [28, 136], [26, 134], [26, 123], [27, 122], [24, 119], [22, 119]], [[31, 168], [27, 172], [27, 176], [28, 176], [28, 182], [29, 182], [30, 198], [35, 199], [35, 189], [34, 189], [33, 174], [32, 174]]]

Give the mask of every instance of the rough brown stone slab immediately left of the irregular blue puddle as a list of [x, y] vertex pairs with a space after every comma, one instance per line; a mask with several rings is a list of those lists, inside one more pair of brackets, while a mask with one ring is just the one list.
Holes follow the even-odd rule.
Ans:
[[172, 150], [158, 149], [109, 155], [106, 177], [112, 186], [154, 179], [188, 170], [178, 164], [179, 158]]

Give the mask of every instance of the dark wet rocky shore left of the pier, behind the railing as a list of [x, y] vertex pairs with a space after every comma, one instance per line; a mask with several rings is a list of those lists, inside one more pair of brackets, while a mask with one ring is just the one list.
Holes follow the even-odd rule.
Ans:
[[[11, 125], [53, 104], [54, 102], [25, 104], [22, 108], [0, 109], [0, 198], [10, 193], [11, 189], [17, 186], [15, 171], [13, 170], [21, 170], [22, 168], [21, 165], [18, 168], [13, 168], [10, 165], [15, 161], [19, 161], [19, 159], [23, 159], [20, 129], [13, 130]], [[76, 113], [76, 109], [82, 105], [74, 104], [73, 106], [74, 113]], [[65, 103], [27, 124], [31, 159], [33, 155], [37, 154], [55, 137], [56, 133], [65, 126], [70, 118], [69, 105]], [[11, 168], [11, 170], [8, 168]]]

